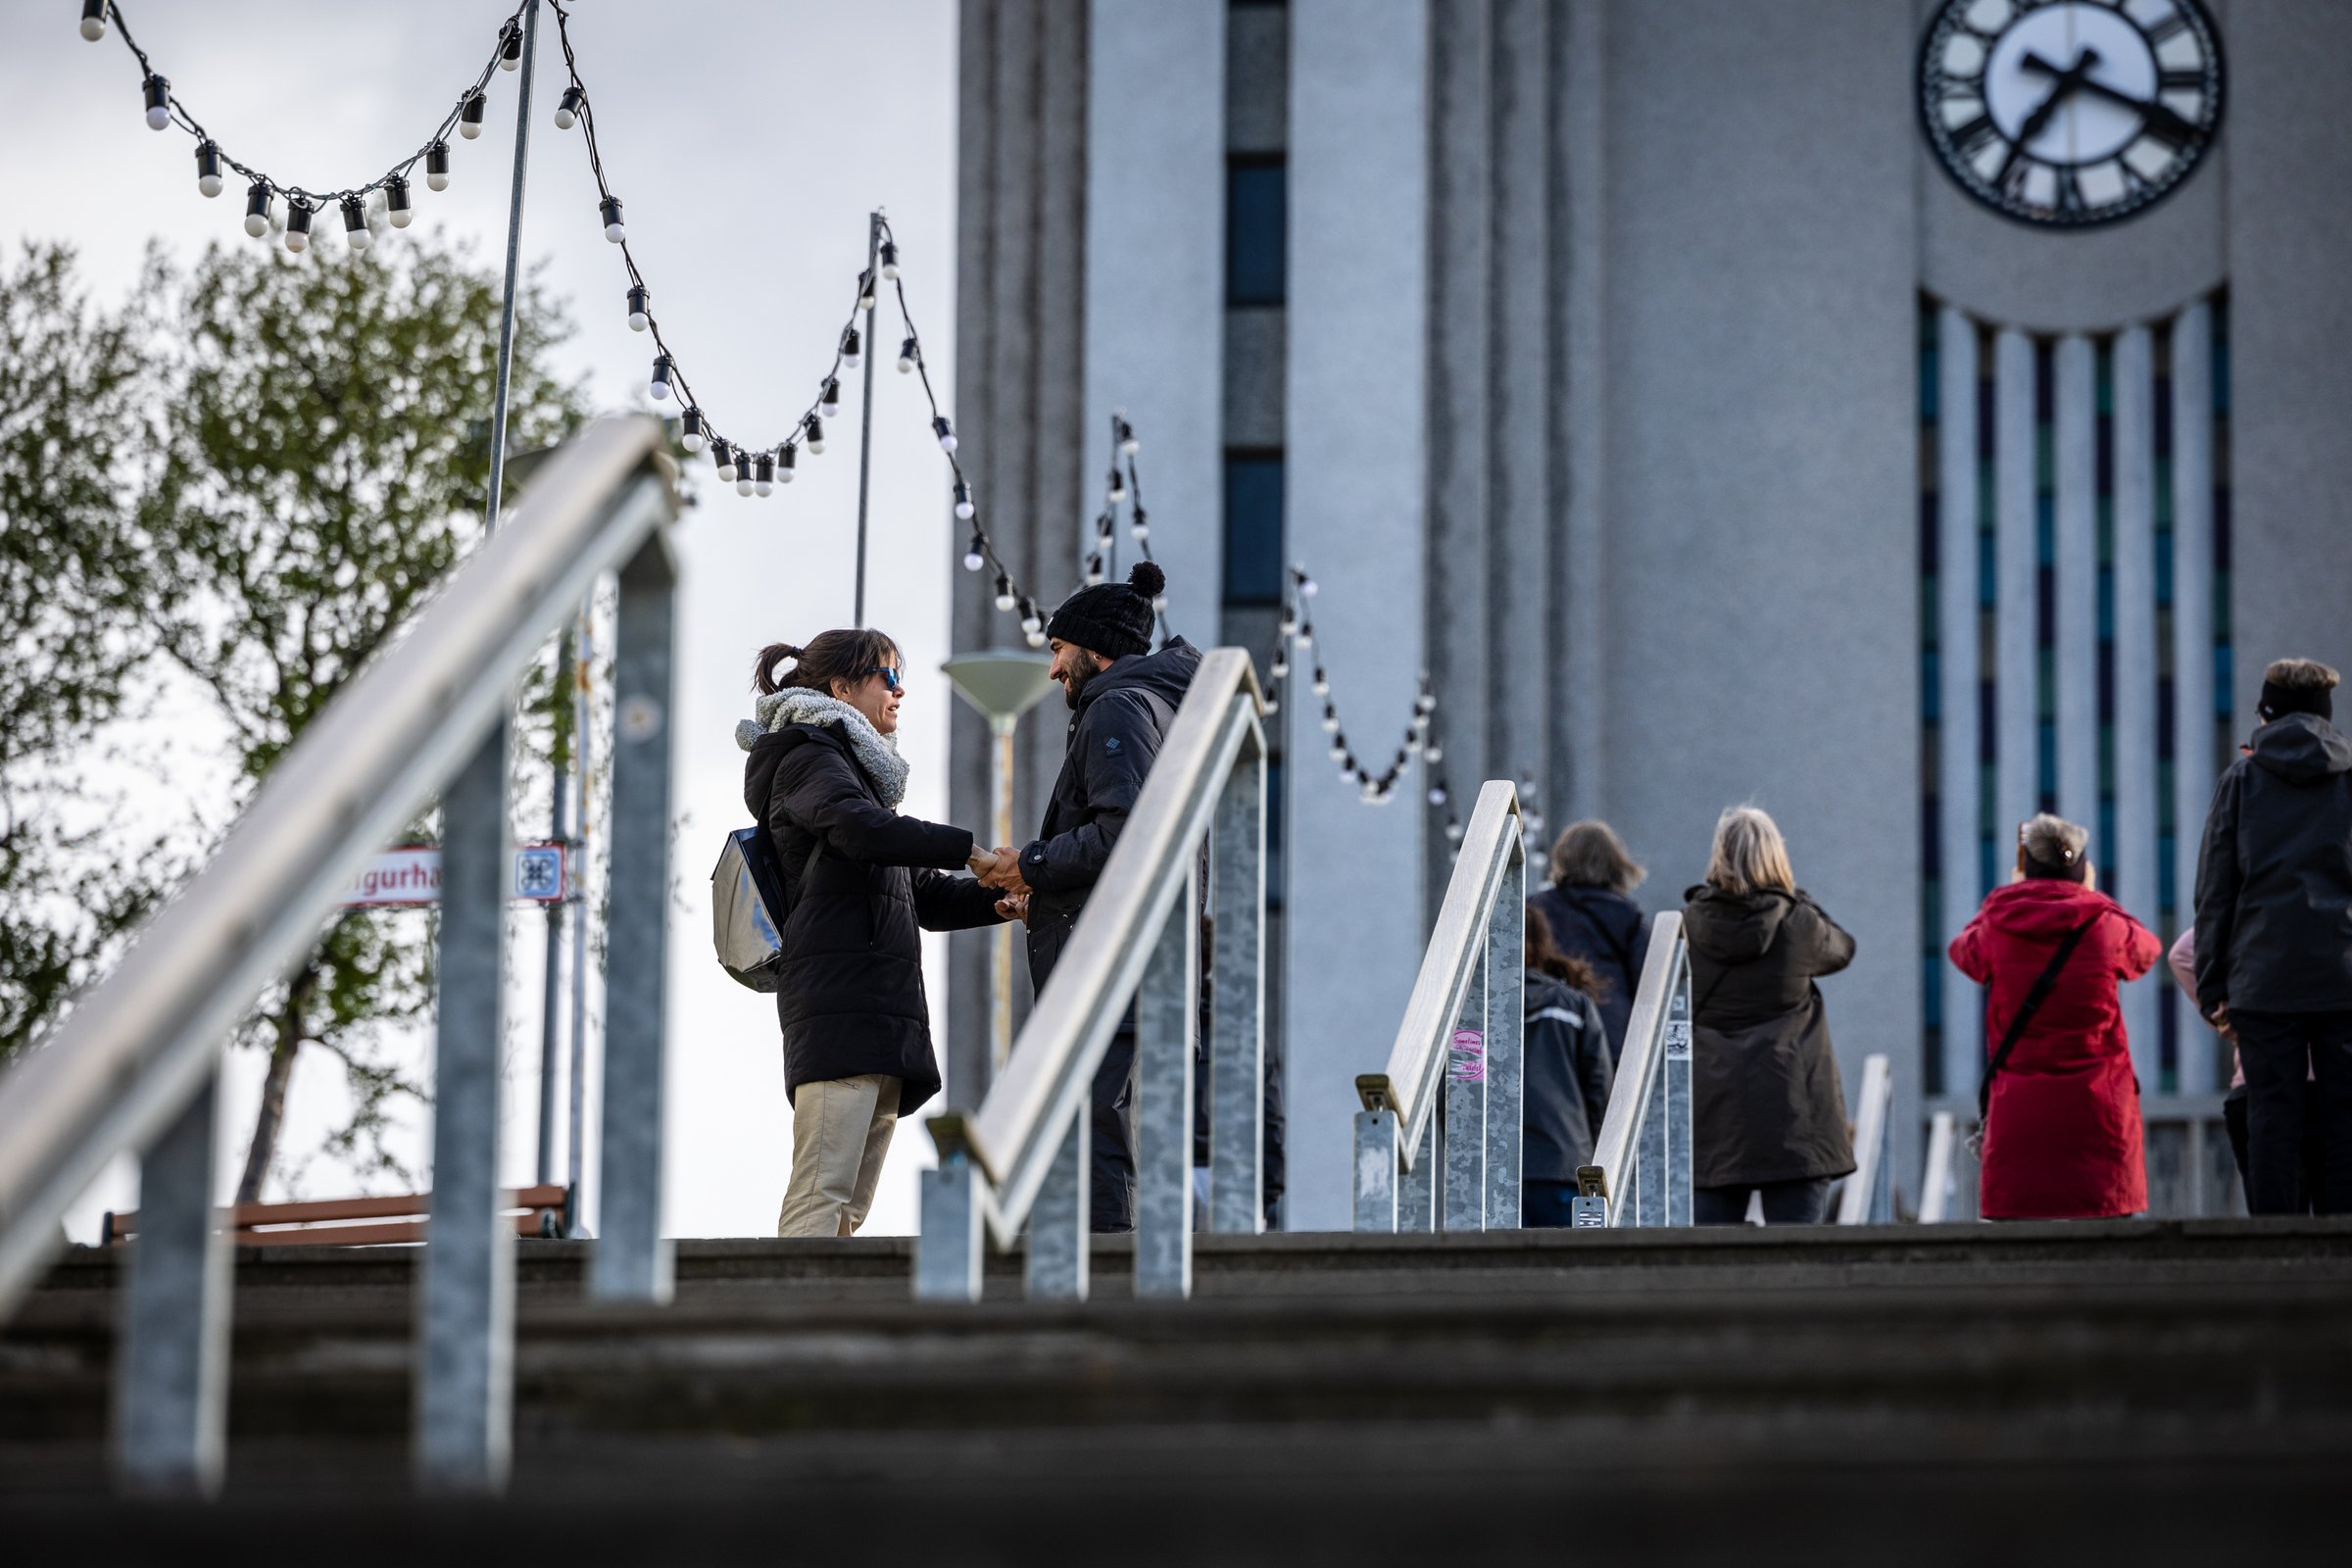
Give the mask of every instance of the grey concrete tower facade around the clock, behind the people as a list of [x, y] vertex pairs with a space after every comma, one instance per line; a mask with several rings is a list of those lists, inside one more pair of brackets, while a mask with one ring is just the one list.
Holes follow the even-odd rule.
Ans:
[[[1183, 536], [1183, 574], [1207, 576], [1216, 487], [1178, 475], [1209, 473], [1197, 433], [1218, 428], [1202, 409], [1221, 386], [1225, 444], [1287, 451], [1284, 548], [1324, 585], [1350, 729], [1378, 733], [1383, 703], [1402, 724], [1425, 665], [1456, 792], [1526, 778], [1548, 827], [1609, 818], [1653, 910], [1698, 879], [1722, 806], [1773, 811], [1799, 882], [1858, 938], [1823, 992], [1849, 1091], [1863, 1056], [1893, 1063], [1910, 1197], [1924, 950], [1973, 910], [1985, 856], [2006, 863], [1985, 835], [2044, 795], [2112, 813], [2103, 872], [2154, 924], [2263, 663], [2352, 665], [2352, 7], [2211, 0], [2220, 139], [2169, 200], [2084, 233], [1997, 216], [1936, 167], [1915, 106], [1931, 0], [1294, 0], [1277, 132], [1249, 73], [1279, 9], [967, 0], [960, 404], [983, 503], [1000, 529], [1040, 520], [1058, 552], [1042, 578], [1065, 588], [1098, 494], [1096, 404], [1164, 400], [1178, 449], [1148, 454], [1169, 473], [1155, 548], [1176, 559]], [[1190, 331], [1216, 303], [1200, 268], [1218, 146], [1287, 146], [1291, 292], [1263, 322]], [[2030, 614], [2044, 512], [2056, 632]], [[2218, 538], [2230, 590], [2201, 621]], [[2112, 583], [2093, 590], [2103, 548]], [[1002, 625], [981, 588], [957, 607], [974, 646]], [[2216, 635], [2230, 679], [2206, 689]], [[2105, 783], [2086, 722], [2112, 726]], [[1350, 1081], [1395, 1030], [1444, 811], [1359, 806], [1312, 722], [1289, 741], [1287, 1220], [1319, 1227], [1345, 1222]], [[957, 802], [981, 802], [978, 726], [955, 743]], [[1037, 724], [1030, 766], [1056, 743]], [[1950, 875], [1924, 907], [1929, 839]], [[2126, 992], [2150, 1093], [2159, 994]], [[1973, 1001], [1950, 971], [1943, 997], [1940, 1103], [1973, 1110]], [[2223, 1060], [2176, 1025], [2194, 1093]]]

